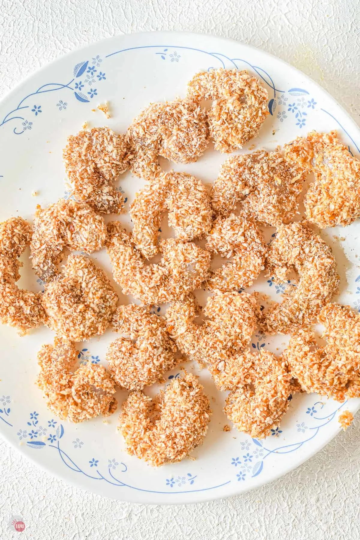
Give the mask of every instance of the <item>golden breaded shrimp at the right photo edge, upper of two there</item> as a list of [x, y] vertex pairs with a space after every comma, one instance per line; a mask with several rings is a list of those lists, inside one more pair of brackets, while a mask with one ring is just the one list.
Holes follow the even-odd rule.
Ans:
[[336, 131], [313, 131], [308, 141], [315, 154], [315, 182], [305, 196], [307, 218], [322, 228], [350, 225], [360, 217], [360, 161]]

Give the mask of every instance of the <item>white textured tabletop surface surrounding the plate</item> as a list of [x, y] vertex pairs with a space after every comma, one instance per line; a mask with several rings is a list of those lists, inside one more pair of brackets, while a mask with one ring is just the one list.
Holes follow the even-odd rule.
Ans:
[[[188, 30], [279, 56], [320, 83], [360, 124], [359, 28], [358, 0], [0, 0], [0, 97], [82, 45], [122, 33]], [[0, 538], [355, 540], [359, 428], [358, 415], [315, 457], [261, 489], [173, 507], [110, 501], [73, 488], [0, 439]], [[24, 532], [8, 528], [14, 515], [24, 518]]]

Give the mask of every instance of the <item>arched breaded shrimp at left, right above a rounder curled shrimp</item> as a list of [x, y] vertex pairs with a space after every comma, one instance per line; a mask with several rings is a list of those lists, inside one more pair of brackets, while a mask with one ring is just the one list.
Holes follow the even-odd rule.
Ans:
[[50, 281], [63, 260], [65, 248], [92, 253], [107, 239], [104, 219], [87, 203], [59, 199], [46, 210], [36, 207], [30, 244], [32, 267], [43, 281]]

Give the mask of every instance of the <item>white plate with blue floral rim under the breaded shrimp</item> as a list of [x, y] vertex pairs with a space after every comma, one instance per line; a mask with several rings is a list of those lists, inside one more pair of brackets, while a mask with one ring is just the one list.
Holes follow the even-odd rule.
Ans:
[[[64, 195], [62, 148], [67, 136], [78, 132], [85, 121], [91, 127], [108, 124], [124, 132], [149, 102], [184, 96], [186, 83], [196, 71], [222, 66], [248, 69], [260, 76], [268, 89], [271, 115], [260, 137], [249, 145], [274, 149], [311, 129], [338, 129], [349, 149], [358, 152], [359, 130], [334, 99], [301, 72], [263, 51], [191, 33], [121, 36], [46, 66], [0, 104], [1, 220], [12, 215], [31, 219], [37, 204], [46, 206]], [[110, 103], [110, 120], [100, 111], [92, 112], [106, 100]], [[207, 150], [197, 163], [174, 168], [210, 182], [225, 159], [223, 154]], [[127, 208], [142, 184], [130, 173], [119, 181], [127, 196]], [[33, 197], [33, 192], [37, 196]], [[128, 214], [121, 219], [128, 222]], [[268, 229], [269, 238], [272, 232]], [[359, 222], [322, 233], [338, 261], [342, 278], [338, 300], [357, 309], [359, 233]], [[345, 240], [338, 240], [339, 237]], [[105, 253], [93, 257], [110, 271]], [[42, 284], [36, 282], [26, 257], [24, 261], [20, 285], [40, 290]], [[279, 299], [284, 287], [262, 277], [254, 288]], [[120, 300], [126, 298], [120, 294]], [[338, 411], [355, 412], [360, 404], [360, 400], [340, 404], [316, 395], [296, 395], [279, 431], [259, 442], [234, 429], [230, 433], [222, 430], [228, 423], [222, 412], [224, 395], [216, 392], [204, 369], [200, 379], [213, 397], [214, 410], [205, 443], [193, 453], [195, 461], [184, 460], [154, 469], [126, 454], [116, 430], [118, 413], [106, 422], [97, 419], [80, 425], [62, 422], [49, 413], [35, 385], [36, 353], [42, 343], [52, 342], [49, 329], [37, 329], [20, 338], [15, 329], [1, 326], [0, 336], [2, 436], [66, 482], [120, 500], [189, 503], [255, 488], [314, 455], [338, 433]], [[108, 332], [100, 339], [80, 343], [80, 360], [102, 362], [112, 339], [114, 336]], [[279, 353], [285, 341], [283, 336], [270, 340], [257, 334], [252, 347], [257, 350], [266, 346]], [[178, 372], [166, 377], [171, 379]], [[125, 396], [119, 393], [120, 403]]]

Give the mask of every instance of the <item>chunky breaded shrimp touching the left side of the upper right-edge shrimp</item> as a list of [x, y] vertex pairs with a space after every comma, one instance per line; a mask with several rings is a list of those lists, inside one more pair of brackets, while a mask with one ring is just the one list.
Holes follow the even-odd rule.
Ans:
[[261, 224], [289, 223], [310, 172], [309, 147], [306, 139], [298, 138], [283, 151], [279, 147], [228, 158], [212, 186], [214, 211], [228, 215], [241, 201], [242, 212]]

